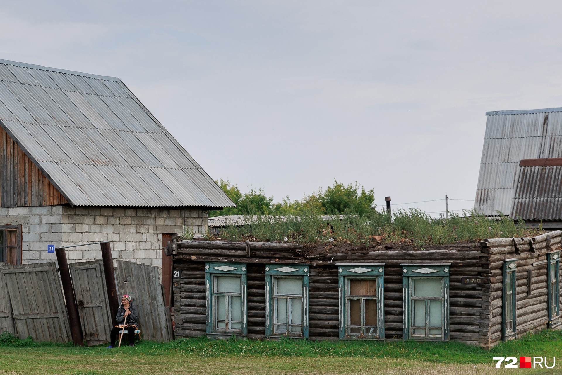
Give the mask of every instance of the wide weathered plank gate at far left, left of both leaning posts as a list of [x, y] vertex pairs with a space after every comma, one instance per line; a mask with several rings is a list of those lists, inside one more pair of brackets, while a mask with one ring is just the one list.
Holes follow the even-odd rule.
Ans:
[[4, 265], [0, 278], [10, 298], [17, 336], [31, 336], [33, 341], [71, 341], [55, 262]]

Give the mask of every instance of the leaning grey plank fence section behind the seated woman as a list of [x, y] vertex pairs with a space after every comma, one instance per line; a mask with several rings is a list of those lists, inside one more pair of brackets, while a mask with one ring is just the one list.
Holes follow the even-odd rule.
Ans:
[[171, 319], [164, 304], [158, 268], [130, 261], [117, 261], [117, 289], [133, 299], [139, 325], [146, 340], [167, 342], [173, 339]]

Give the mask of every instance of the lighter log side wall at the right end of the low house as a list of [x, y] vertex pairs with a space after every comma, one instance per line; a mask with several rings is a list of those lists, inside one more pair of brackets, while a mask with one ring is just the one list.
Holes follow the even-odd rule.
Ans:
[[533, 238], [493, 238], [481, 242], [482, 264], [490, 268], [487, 275], [490, 283], [486, 284], [482, 293], [481, 346], [489, 349], [502, 340], [504, 259], [518, 259], [515, 263], [517, 336], [547, 328], [549, 314], [546, 253], [560, 249], [561, 234], [562, 231], [554, 231]]

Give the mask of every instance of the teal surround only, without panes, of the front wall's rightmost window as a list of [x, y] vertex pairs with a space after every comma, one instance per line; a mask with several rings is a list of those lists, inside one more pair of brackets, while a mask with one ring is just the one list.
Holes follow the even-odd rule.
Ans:
[[[449, 341], [449, 271], [450, 263], [432, 263], [432, 264], [401, 264], [402, 266], [402, 308], [404, 309], [402, 315], [403, 327], [403, 340], [416, 340], [416, 341]], [[413, 309], [411, 284], [413, 279], [420, 278], [439, 278], [442, 280], [442, 336], [435, 337], [424, 335], [424, 337], [411, 335]], [[427, 300], [428, 298], [425, 297]], [[427, 328], [427, 327], [426, 327]]]

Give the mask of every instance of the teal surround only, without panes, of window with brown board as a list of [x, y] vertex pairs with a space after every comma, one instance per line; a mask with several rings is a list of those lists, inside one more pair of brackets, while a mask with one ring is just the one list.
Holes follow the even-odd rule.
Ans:
[[[339, 338], [348, 340], [384, 340], [384, 265], [386, 263], [336, 263], [338, 267], [338, 297], [339, 297]], [[377, 334], [365, 336], [351, 335], [348, 332], [348, 281], [377, 280]], [[363, 299], [361, 299], [363, 300]], [[361, 327], [364, 316], [361, 317]]]

